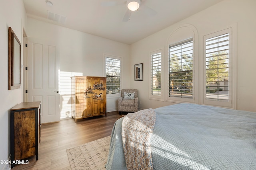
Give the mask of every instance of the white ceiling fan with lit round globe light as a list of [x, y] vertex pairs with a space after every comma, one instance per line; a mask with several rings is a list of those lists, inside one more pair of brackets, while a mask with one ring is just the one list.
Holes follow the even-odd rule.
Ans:
[[143, 10], [144, 12], [148, 13], [150, 16], [156, 15], [156, 11], [153, 10], [152, 8], [146, 6], [144, 4], [145, 0], [127, 0], [127, 1], [109, 1], [109, 2], [103, 2], [102, 6], [116, 6], [116, 5], [122, 5], [126, 4], [127, 6], [127, 11], [124, 14], [124, 18], [122, 21], [126, 22], [131, 20], [131, 14], [132, 12], [138, 11], [139, 9]]

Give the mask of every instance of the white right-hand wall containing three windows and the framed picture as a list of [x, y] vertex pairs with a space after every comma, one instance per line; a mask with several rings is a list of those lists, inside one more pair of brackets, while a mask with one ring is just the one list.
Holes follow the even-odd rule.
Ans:
[[[203, 64], [203, 36], [226, 29], [232, 25], [237, 25], [237, 102], [236, 108], [240, 110], [256, 111], [256, 78], [255, 63], [256, 53], [256, 1], [255, 0], [224, 0], [215, 6], [212, 6], [202, 12], [199, 12], [185, 20], [167, 27], [145, 39], [142, 39], [131, 45], [131, 64], [130, 75], [134, 74], [134, 64], [144, 64], [144, 81], [135, 82], [131, 76], [131, 88], [138, 89], [138, 96], [141, 104], [140, 109], [156, 108], [168, 106], [174, 103], [149, 100], [150, 83], [150, 52], [164, 48], [164, 57], [168, 58], [167, 41], [172, 31], [184, 24], [193, 25], [198, 32], [198, 64]], [[165, 60], [166, 61], [166, 60]], [[167, 62], [167, 61], [166, 61]], [[198, 88], [198, 95], [202, 96], [201, 74], [198, 74], [198, 80], [201, 85]], [[166, 84], [166, 82], [165, 82]], [[198, 104], [202, 104], [200, 98], [196, 99]], [[140, 103], [139, 102], [139, 103]]]

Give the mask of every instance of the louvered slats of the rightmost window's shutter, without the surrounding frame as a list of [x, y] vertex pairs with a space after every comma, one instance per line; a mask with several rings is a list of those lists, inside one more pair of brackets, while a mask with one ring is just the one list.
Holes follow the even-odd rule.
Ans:
[[206, 39], [206, 99], [228, 102], [229, 33]]

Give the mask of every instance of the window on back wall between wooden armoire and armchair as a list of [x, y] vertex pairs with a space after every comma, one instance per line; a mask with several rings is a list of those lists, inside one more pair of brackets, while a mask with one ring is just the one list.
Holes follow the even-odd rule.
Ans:
[[121, 60], [105, 57], [105, 75], [107, 79], [107, 94], [120, 93]]

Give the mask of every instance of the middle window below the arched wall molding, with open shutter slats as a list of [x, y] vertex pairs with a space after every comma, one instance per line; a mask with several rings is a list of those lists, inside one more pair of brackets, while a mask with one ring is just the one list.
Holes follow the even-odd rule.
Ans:
[[168, 96], [193, 98], [193, 41], [169, 45]]

